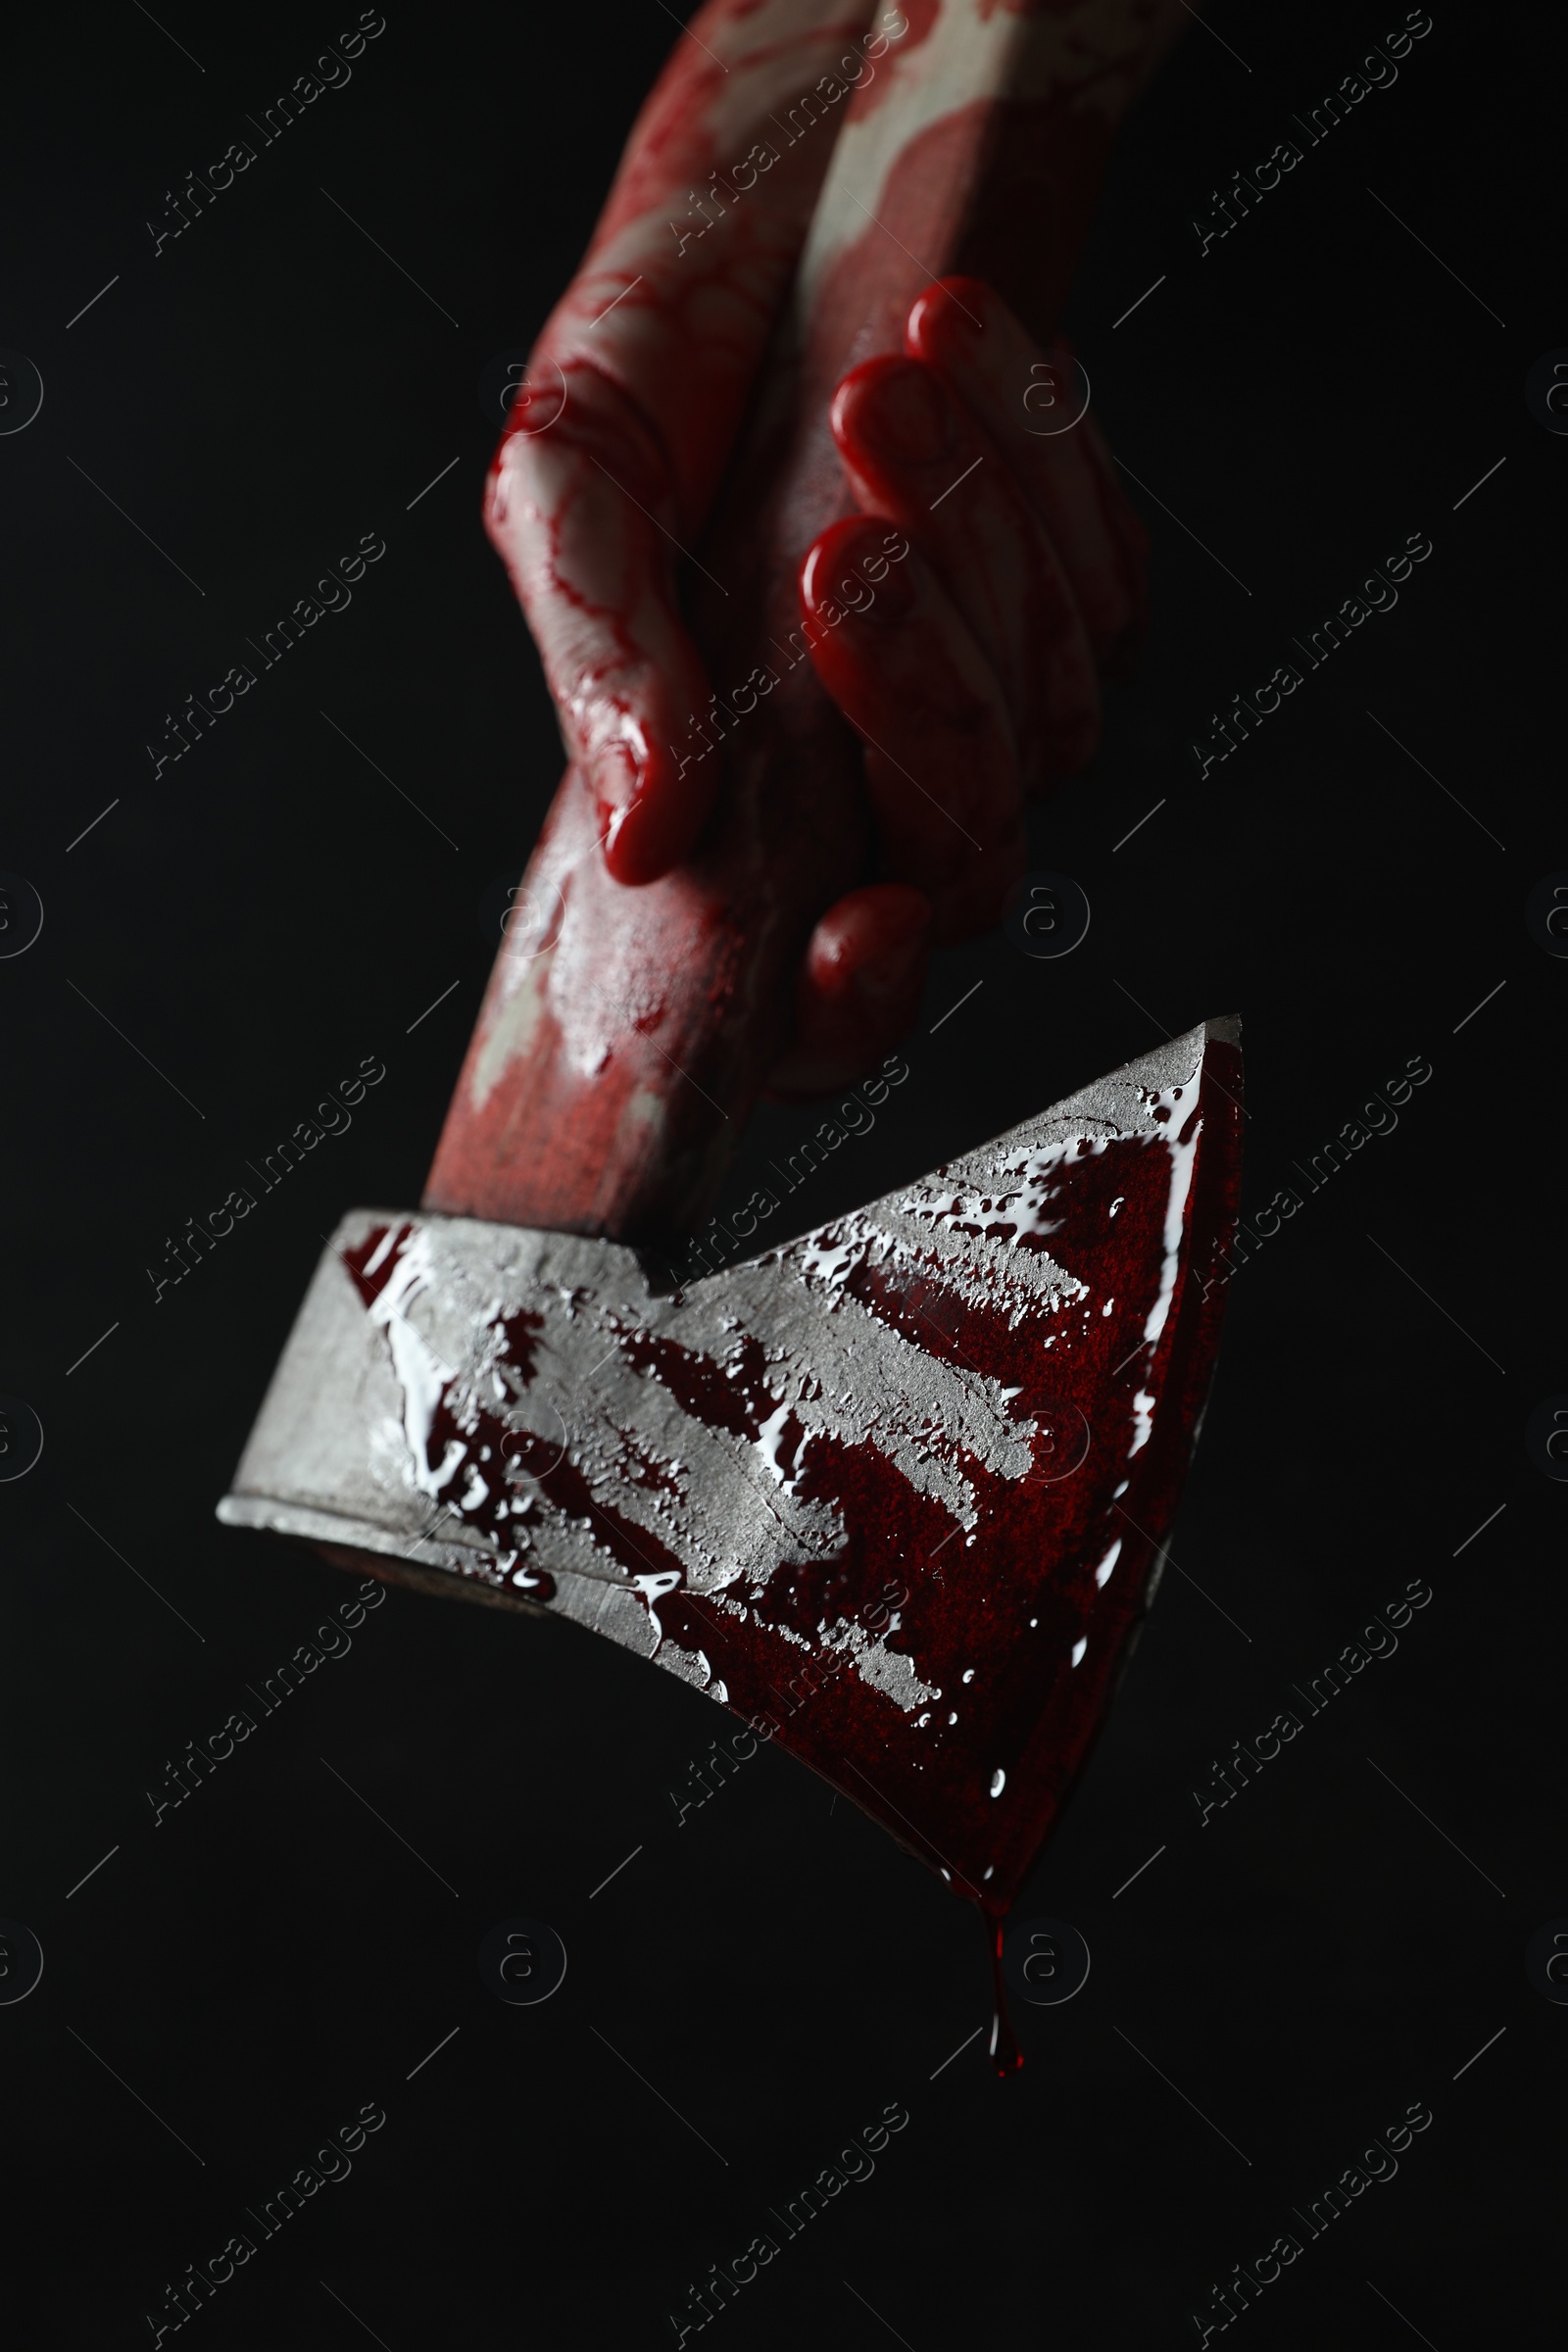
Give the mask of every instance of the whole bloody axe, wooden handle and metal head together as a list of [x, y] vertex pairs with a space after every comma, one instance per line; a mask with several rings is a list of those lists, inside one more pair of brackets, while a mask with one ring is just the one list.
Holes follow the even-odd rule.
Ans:
[[[696, 607], [712, 675], [797, 626], [804, 550], [844, 510], [832, 386], [900, 346], [924, 263], [1025, 315], [1060, 296], [1018, 202], [1060, 26], [950, 0], [846, 120], [703, 543], [729, 583]], [[710, 1207], [785, 1042], [811, 924], [865, 870], [856, 757], [799, 663], [724, 746], [698, 851], [642, 889], [609, 877], [567, 771], [423, 1209], [339, 1225], [219, 1517], [654, 1658], [994, 1926], [1159, 1581], [1218, 1345], [1239, 1030], [661, 1282], [651, 1254]]]

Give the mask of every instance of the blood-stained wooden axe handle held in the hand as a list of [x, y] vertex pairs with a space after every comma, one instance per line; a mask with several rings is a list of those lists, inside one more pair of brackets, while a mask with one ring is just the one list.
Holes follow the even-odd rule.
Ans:
[[940, 0], [849, 103], [686, 604], [724, 717], [696, 854], [628, 889], [567, 769], [496, 957], [425, 1209], [675, 1247], [785, 1047], [816, 920], [870, 873], [858, 743], [802, 640], [799, 564], [849, 513], [827, 405], [933, 278], [1046, 334], [1119, 115], [1175, 0]]

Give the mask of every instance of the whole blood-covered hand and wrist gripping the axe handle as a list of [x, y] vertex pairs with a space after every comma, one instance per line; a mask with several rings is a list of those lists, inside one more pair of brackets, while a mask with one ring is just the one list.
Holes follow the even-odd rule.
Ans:
[[[719, 760], [677, 748], [710, 699], [677, 574], [832, 155], [835, 120], [795, 106], [825, 78], [846, 103], [903, 31], [896, 9], [867, 31], [865, 0], [712, 0], [693, 19], [496, 452], [487, 527], [628, 887], [686, 858], [719, 783]], [[1095, 670], [1135, 633], [1143, 541], [1088, 419], [1041, 430], [1072, 402], [1067, 355], [961, 278], [914, 303], [903, 358], [837, 390], [858, 517], [811, 546], [802, 607], [865, 746], [875, 863], [809, 941], [783, 1091], [853, 1077], [903, 1035], [931, 943], [997, 920], [1025, 795], [1093, 750]], [[846, 602], [891, 529], [907, 555]]]

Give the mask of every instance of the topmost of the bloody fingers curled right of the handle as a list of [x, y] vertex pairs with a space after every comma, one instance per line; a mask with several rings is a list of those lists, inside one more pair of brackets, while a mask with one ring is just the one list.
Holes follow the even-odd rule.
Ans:
[[1072, 353], [1060, 339], [1041, 350], [978, 278], [929, 287], [910, 310], [905, 348], [936, 369], [1023, 482], [1072, 581], [1095, 659], [1112, 661], [1140, 623], [1147, 539], [1098, 428], [1086, 414], [1067, 423], [1077, 407]]

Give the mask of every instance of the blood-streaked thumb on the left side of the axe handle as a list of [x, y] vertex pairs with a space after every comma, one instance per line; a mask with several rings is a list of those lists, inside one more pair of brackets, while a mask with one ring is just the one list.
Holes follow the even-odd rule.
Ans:
[[616, 882], [677, 866], [719, 781], [693, 722], [708, 680], [679, 619], [670, 510], [651, 435], [592, 369], [564, 376], [541, 428], [508, 433], [484, 499]]

